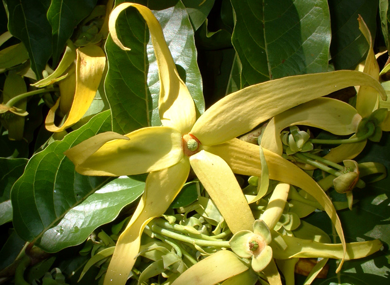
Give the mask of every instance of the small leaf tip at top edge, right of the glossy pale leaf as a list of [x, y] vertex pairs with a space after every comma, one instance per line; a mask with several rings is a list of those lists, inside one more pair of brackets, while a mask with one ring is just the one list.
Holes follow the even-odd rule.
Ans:
[[209, 15], [215, 0], [182, 0], [182, 2], [187, 8], [188, 16], [190, 16], [190, 20], [196, 31]]

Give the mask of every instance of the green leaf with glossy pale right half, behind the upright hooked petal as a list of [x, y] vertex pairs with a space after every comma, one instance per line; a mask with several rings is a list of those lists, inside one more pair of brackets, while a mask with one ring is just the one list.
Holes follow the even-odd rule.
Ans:
[[[118, 37], [131, 51], [120, 50], [111, 37], [106, 42], [109, 69], [105, 91], [113, 114], [113, 130], [122, 134], [148, 125], [161, 125], [156, 57], [151, 43], [148, 44], [147, 27], [135, 10], [126, 9], [117, 19]], [[185, 7], [179, 1], [175, 7], [154, 14], [200, 114], [204, 111], [202, 82], [196, 63], [194, 31]]]

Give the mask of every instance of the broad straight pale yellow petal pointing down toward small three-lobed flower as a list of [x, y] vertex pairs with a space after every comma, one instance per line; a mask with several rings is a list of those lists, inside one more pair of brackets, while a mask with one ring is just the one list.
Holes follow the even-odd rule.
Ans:
[[191, 156], [190, 163], [229, 229], [233, 233], [251, 231], [254, 217], [229, 165], [220, 157], [204, 150]]

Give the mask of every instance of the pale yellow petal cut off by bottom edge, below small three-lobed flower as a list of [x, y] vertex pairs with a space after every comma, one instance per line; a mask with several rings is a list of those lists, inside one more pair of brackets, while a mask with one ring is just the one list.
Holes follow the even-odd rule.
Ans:
[[214, 285], [249, 268], [230, 250], [219, 250], [184, 271], [172, 285]]

